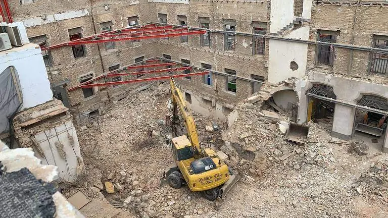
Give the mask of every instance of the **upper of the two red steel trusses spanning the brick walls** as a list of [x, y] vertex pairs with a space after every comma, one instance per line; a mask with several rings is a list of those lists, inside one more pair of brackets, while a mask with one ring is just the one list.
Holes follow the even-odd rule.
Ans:
[[104, 32], [84, 38], [64, 42], [61, 44], [43, 47], [42, 50], [53, 49], [63, 46], [95, 44], [112, 41], [127, 41], [152, 38], [165, 38], [184, 35], [205, 34], [206, 30], [191, 30], [189, 28], [174, 27], [171, 25], [146, 24], [136, 27], [125, 28], [110, 32]]

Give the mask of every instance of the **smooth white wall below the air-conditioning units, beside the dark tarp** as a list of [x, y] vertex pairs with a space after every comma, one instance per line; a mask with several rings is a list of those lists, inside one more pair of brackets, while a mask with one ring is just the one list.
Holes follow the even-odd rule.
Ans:
[[19, 75], [23, 95], [21, 110], [53, 99], [53, 92], [38, 45], [30, 43], [1, 51], [0, 72], [10, 66], [14, 66]]

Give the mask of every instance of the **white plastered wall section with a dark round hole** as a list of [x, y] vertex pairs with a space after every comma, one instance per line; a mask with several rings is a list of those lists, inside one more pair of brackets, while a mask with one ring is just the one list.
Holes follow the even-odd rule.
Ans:
[[[309, 31], [310, 27], [301, 27], [285, 37], [307, 40]], [[292, 77], [304, 77], [307, 65], [307, 46], [306, 43], [270, 39], [268, 82], [275, 85]], [[290, 69], [292, 61], [298, 64], [298, 70], [293, 71]]]

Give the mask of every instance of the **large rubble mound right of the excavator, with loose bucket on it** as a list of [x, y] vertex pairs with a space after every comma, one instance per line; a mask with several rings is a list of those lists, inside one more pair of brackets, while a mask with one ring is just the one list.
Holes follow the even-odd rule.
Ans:
[[324, 131], [309, 123], [308, 142], [304, 145], [284, 140], [288, 121], [273, 111], [263, 110], [262, 102], [240, 104], [238, 118], [225, 132], [220, 149], [227, 155], [229, 166], [251, 175], [261, 175], [270, 165], [300, 170], [305, 165], [327, 167], [335, 162], [333, 150], [326, 146], [331, 138], [315, 137]]

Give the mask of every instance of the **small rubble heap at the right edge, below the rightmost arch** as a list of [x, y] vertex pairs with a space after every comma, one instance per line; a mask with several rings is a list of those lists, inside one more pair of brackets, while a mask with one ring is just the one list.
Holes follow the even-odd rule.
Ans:
[[361, 173], [358, 183], [359, 194], [388, 203], [388, 159], [372, 162], [370, 168]]

